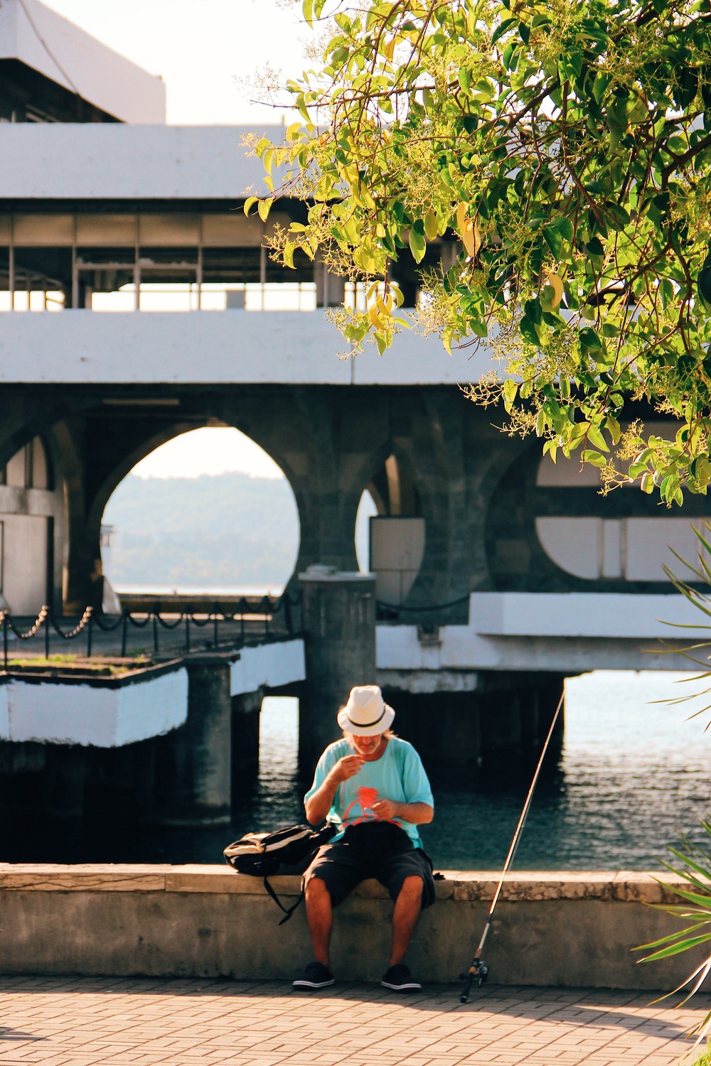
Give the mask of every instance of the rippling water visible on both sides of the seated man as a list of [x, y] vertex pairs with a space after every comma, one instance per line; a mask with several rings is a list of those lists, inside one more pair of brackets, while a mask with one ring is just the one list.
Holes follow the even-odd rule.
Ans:
[[[690, 690], [678, 681], [686, 677], [599, 672], [566, 682], [562, 758], [542, 775], [514, 869], [659, 869], [680, 833], [704, 842], [698, 823], [711, 809], [711, 729], [704, 729], [711, 715], [686, 721], [704, 701], [653, 702]], [[232, 839], [303, 820], [309, 782], [297, 776], [296, 715], [295, 700], [265, 700], [259, 779], [241, 804]], [[527, 774], [499, 779], [496, 791], [464, 793], [435, 778], [435, 822], [422, 833], [435, 867], [501, 869], [529, 785]], [[127, 843], [123, 860], [221, 861], [229, 836], [225, 829], [142, 835]]]

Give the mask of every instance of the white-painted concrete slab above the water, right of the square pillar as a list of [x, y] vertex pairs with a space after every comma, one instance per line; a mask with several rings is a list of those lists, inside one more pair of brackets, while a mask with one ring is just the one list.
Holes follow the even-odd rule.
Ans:
[[481, 671], [690, 669], [681, 649], [704, 639], [702, 621], [676, 591], [472, 593], [468, 626], [377, 626], [378, 679], [456, 692], [474, 691]]

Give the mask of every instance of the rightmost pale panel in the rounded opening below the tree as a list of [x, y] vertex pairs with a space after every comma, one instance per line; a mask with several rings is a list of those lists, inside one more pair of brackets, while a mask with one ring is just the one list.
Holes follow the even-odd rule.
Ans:
[[[708, 537], [701, 522], [701, 535]], [[628, 518], [627, 568], [628, 581], [667, 581], [662, 569], [665, 564], [680, 577], [688, 577], [686, 568], [674, 556], [674, 548], [692, 566], [698, 566], [700, 548], [698, 537], [688, 518]], [[708, 555], [707, 555], [708, 561]]]

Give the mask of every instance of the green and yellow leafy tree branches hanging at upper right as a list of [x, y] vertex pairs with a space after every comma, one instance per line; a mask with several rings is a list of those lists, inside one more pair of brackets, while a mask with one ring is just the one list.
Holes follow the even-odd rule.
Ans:
[[[276, 196], [307, 200], [277, 231], [285, 264], [301, 248], [365, 279], [367, 309], [339, 324], [383, 353], [408, 325], [390, 264], [456, 238], [419, 317], [449, 350], [490, 344], [472, 399], [608, 484], [706, 494], [710, 0], [302, 3], [327, 31], [322, 62], [288, 83], [284, 144], [256, 144], [274, 195], [245, 204], [265, 219]], [[681, 429], [626, 431], [630, 400]]]

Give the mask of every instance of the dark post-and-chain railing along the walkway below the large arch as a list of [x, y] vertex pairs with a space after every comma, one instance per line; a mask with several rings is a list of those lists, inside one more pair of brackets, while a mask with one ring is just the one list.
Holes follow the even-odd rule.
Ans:
[[[120, 614], [109, 616], [87, 607], [81, 618], [69, 629], [62, 628], [60, 620], [47, 605], [42, 607], [37, 617], [27, 628], [27, 618], [18, 618], [16, 625], [11, 612], [4, 610], [0, 611], [3, 668], [6, 671], [10, 660], [20, 651], [21, 645], [15, 645], [11, 649], [11, 642], [14, 641], [43, 642], [44, 658], [49, 660], [52, 641], [55, 648], [56, 637], [64, 644], [83, 636], [86, 644], [82, 658], [86, 659], [98, 656], [126, 659], [129, 655], [139, 653], [158, 657], [161, 655], [161, 644], [163, 653], [189, 655], [206, 648], [238, 648], [247, 643], [279, 640], [295, 634], [295, 605], [296, 601], [285, 594], [279, 598], [243, 597], [237, 603], [237, 609], [230, 612], [191, 614], [124, 610]], [[66, 623], [67, 619], [62, 620]], [[145, 630], [148, 641], [144, 641], [140, 649], [129, 652], [130, 637], [134, 630]], [[165, 636], [167, 633], [174, 634], [169, 641]], [[115, 634], [113, 640], [111, 634]], [[21, 657], [30, 655], [32, 651], [28, 645], [28, 651], [22, 650]]]

